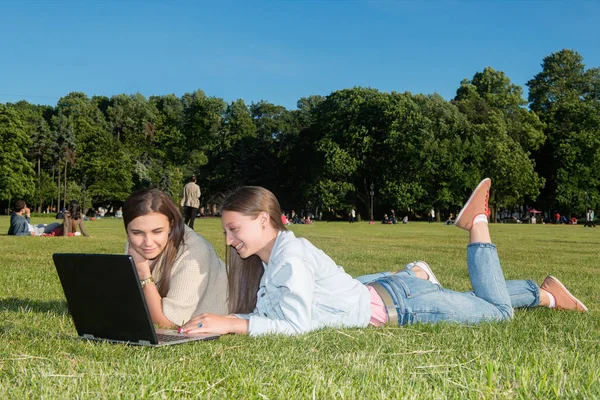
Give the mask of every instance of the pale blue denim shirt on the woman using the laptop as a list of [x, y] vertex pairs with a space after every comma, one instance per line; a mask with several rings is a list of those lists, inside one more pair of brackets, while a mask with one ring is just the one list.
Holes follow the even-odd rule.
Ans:
[[293, 335], [325, 326], [365, 327], [371, 317], [368, 289], [323, 251], [291, 231], [277, 235], [249, 319], [252, 336]]

